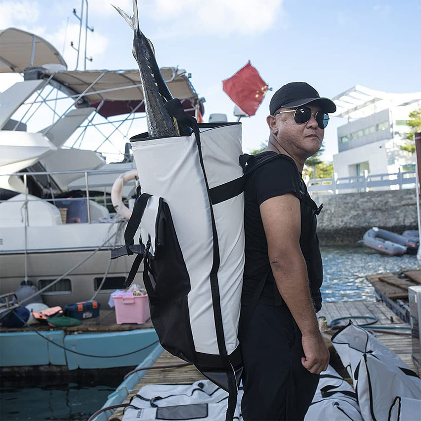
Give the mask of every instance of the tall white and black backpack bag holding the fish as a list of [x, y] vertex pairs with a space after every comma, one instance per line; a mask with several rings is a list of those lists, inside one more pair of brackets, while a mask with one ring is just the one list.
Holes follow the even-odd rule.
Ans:
[[127, 283], [144, 259], [143, 280], [162, 347], [228, 391], [233, 409], [242, 371], [241, 124], [189, 123], [190, 136], [146, 133], [130, 139], [142, 194], [127, 224], [126, 245], [112, 258], [138, 253]]

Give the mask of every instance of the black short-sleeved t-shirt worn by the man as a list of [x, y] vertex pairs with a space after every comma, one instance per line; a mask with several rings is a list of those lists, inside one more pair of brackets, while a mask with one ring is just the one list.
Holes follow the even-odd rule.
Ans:
[[[261, 159], [270, 158], [275, 152], [267, 151], [256, 155], [256, 164]], [[264, 234], [259, 206], [267, 199], [293, 193], [297, 198], [310, 195], [300, 172], [287, 156], [273, 159], [257, 168], [246, 178], [244, 228], [245, 255], [244, 282], [242, 303], [249, 304], [258, 284], [265, 281], [259, 302], [279, 305], [282, 298], [279, 295], [267, 254], [267, 242]], [[319, 288], [322, 283], [323, 269], [321, 263], [318, 238], [316, 234], [316, 213], [305, 201], [301, 201], [301, 235], [300, 247], [307, 263], [310, 289], [316, 311], [321, 308]]]

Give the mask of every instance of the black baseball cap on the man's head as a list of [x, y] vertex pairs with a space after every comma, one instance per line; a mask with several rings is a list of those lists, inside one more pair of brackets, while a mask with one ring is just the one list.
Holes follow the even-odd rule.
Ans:
[[317, 101], [323, 112], [336, 111], [336, 105], [332, 100], [320, 98], [316, 89], [306, 82], [291, 82], [279, 88], [270, 100], [269, 111], [273, 115], [281, 107], [295, 108], [313, 101]]

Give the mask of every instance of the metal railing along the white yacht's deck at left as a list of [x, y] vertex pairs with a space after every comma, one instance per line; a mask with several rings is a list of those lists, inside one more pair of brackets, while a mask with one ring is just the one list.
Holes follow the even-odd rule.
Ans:
[[[126, 168], [127, 169], [127, 168]], [[125, 170], [126, 170], [125, 169]], [[121, 174], [122, 172], [124, 172], [125, 170], [122, 170], [121, 168], [118, 169], [112, 169], [112, 168], [108, 168], [108, 169], [89, 169], [89, 170], [67, 170], [67, 171], [32, 171], [32, 172], [14, 172], [12, 174], [1, 174], [0, 176], [6, 176], [6, 177], [10, 177], [10, 176], [17, 176], [17, 177], [22, 177], [23, 179], [23, 184], [24, 184], [24, 192], [22, 192], [23, 194], [25, 194], [25, 197], [22, 199], [14, 199], [15, 203], [22, 203], [22, 208], [24, 209], [24, 213], [25, 213], [25, 219], [26, 221], [29, 219], [29, 209], [28, 209], [28, 203], [29, 202], [39, 202], [39, 201], [43, 201], [43, 202], [49, 202], [52, 203], [54, 206], [56, 206], [58, 209], [64, 209], [65, 205], [63, 202], [86, 202], [86, 211], [87, 211], [87, 218], [88, 218], [88, 223], [92, 222], [92, 218], [91, 218], [91, 209], [89, 206], [90, 201], [95, 201], [99, 204], [102, 204], [105, 208], [109, 205], [111, 205], [111, 198], [109, 195], [107, 195], [108, 191], [107, 188], [112, 187], [112, 185], [114, 184], [115, 179], [117, 178], [117, 176], [119, 174]], [[81, 174], [81, 177], [84, 177], [84, 188], [83, 189], [79, 189], [79, 188], [75, 188], [74, 190], [81, 190], [82, 194], [84, 194], [83, 197], [66, 197], [63, 196], [63, 194], [59, 194], [59, 195], [54, 195], [53, 192], [51, 191], [51, 197], [47, 197], [47, 198], [40, 198], [37, 197], [36, 199], [32, 199], [29, 196], [29, 192], [28, 192], [28, 177], [37, 177], [37, 176], [53, 176], [53, 175], [59, 175], [59, 174]], [[112, 181], [107, 182], [106, 180], [101, 180], [101, 182], [99, 181], [94, 181], [93, 183], [90, 183], [90, 179], [92, 180], [93, 177], [95, 176], [101, 176], [101, 175], [110, 175], [110, 174], [116, 174], [115, 177], [112, 178]], [[79, 179], [80, 179], [79, 178]], [[76, 180], [74, 180], [76, 181]], [[133, 193], [136, 190], [137, 187], [137, 182], [136, 180], [131, 180], [128, 181], [126, 184], [126, 186], [132, 186], [133, 189]], [[92, 196], [90, 194], [90, 191], [92, 192], [93, 190], [95, 191], [102, 191], [102, 196], [96, 195], [96, 196]], [[65, 193], [65, 192], [63, 192]], [[7, 202], [8, 199], [6, 200], [0, 200], [0, 204], [3, 202]], [[129, 205], [129, 198], [123, 198], [122, 199], [123, 203], [128, 206]], [[61, 205], [61, 206], [60, 206]], [[27, 222], [25, 222], [25, 226], [26, 226]]]

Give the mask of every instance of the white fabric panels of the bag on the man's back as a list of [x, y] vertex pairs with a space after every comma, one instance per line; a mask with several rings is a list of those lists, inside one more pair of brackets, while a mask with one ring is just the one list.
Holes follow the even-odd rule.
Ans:
[[[242, 177], [240, 124], [205, 127], [200, 139], [209, 189]], [[171, 211], [190, 276], [188, 306], [195, 350], [218, 355], [210, 282], [214, 245], [211, 209], [195, 136], [132, 141], [132, 150], [142, 192], [161, 197]], [[220, 307], [229, 355], [238, 347], [244, 267], [243, 194], [212, 208], [219, 252]]]

